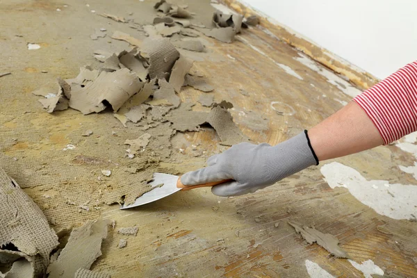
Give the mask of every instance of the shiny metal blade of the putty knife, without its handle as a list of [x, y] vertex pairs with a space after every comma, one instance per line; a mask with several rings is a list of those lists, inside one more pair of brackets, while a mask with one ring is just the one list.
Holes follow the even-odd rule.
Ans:
[[133, 204], [129, 204], [129, 206], [122, 205], [120, 209], [142, 206], [142, 204], [149, 204], [158, 199], [162, 199], [163, 197], [172, 195], [181, 190], [181, 188], [177, 188], [177, 181], [178, 176], [174, 176], [173, 174], [154, 173], [154, 181], [150, 182], [149, 184], [152, 187], [160, 186], [161, 184], [163, 184], [163, 186], [156, 187], [144, 195], [138, 197], [138, 199], [136, 199]]

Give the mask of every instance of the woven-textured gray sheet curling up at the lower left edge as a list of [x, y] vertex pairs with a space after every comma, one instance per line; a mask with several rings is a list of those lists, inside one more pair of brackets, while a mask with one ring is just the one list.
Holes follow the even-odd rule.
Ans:
[[[0, 248], [1, 257], [10, 258], [8, 245], [14, 245], [39, 277], [49, 264], [49, 255], [58, 246], [58, 236], [47, 218], [19, 185], [0, 168]], [[7, 254], [8, 253], [8, 254]]]

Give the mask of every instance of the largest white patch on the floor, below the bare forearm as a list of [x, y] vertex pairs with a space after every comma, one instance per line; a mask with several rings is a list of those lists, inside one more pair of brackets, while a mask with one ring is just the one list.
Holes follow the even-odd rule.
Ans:
[[417, 186], [368, 181], [357, 170], [332, 162], [320, 168], [331, 188], [344, 187], [362, 204], [393, 219], [414, 219], [417, 215]]

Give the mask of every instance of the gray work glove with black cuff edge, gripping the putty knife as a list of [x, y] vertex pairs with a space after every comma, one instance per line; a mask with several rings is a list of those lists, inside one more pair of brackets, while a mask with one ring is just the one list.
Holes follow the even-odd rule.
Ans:
[[234, 145], [222, 154], [208, 158], [207, 167], [184, 174], [181, 182], [185, 186], [195, 186], [233, 179], [213, 186], [211, 191], [218, 196], [238, 196], [271, 186], [311, 165], [318, 165], [318, 159], [304, 131], [274, 147], [266, 143]]

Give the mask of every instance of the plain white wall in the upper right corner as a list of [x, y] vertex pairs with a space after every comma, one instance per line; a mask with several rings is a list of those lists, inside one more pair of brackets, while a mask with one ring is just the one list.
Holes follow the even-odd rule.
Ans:
[[380, 79], [417, 60], [417, 0], [243, 0]]

